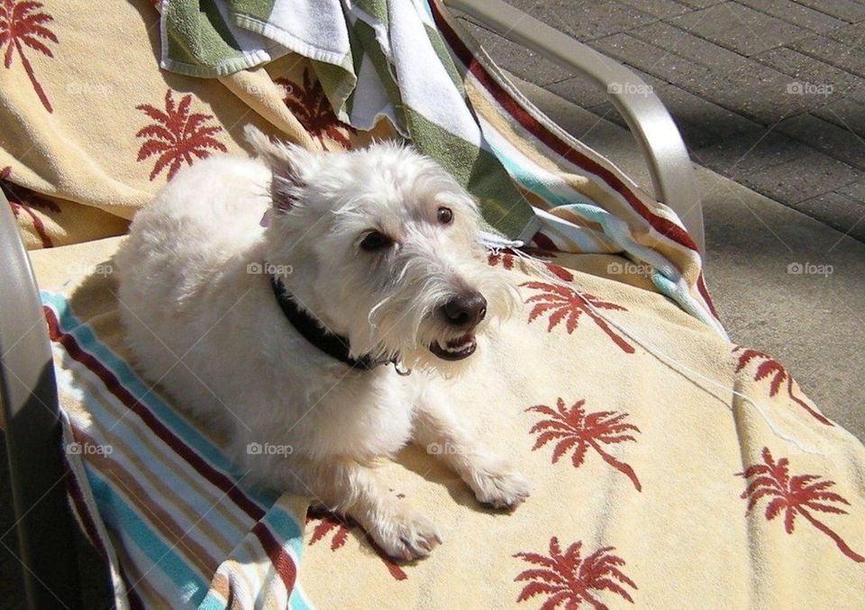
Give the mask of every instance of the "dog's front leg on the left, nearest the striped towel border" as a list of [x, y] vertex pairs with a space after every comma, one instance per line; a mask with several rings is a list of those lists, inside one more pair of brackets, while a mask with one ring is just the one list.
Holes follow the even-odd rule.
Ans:
[[423, 514], [391, 493], [375, 469], [353, 460], [323, 460], [291, 469], [293, 487], [315, 505], [346, 514], [397, 559], [428, 555], [442, 538]]

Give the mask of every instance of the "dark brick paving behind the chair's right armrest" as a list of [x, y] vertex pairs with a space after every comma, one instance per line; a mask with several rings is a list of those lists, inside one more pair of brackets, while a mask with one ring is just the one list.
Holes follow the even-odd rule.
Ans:
[[[865, 241], [865, 1], [507, 1], [633, 68], [697, 163]], [[503, 68], [620, 121], [604, 91], [467, 26]]]

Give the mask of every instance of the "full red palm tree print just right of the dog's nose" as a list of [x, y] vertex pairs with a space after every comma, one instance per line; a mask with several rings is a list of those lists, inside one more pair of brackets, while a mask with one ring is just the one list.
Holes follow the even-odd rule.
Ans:
[[[552, 332], [552, 329], [560, 322], [564, 322], [568, 334], [571, 334], [577, 328], [580, 316], [586, 314], [592, 322], [597, 324], [598, 328], [613, 340], [619, 349], [627, 354], [633, 354], [633, 346], [614, 332], [605, 322], [604, 318], [592, 310], [592, 307], [595, 307], [596, 309], [627, 311], [623, 306], [607, 303], [594, 295], [586, 293], [580, 296], [572, 288], [548, 284], [546, 282], [525, 282], [524, 284], [520, 284], [520, 286], [542, 291], [540, 295], [530, 296], [525, 301], [526, 303], [535, 304], [532, 312], [529, 314], [529, 323], [532, 323], [533, 320], [542, 314], [550, 314], [550, 323], [547, 326], [547, 332]], [[584, 298], [586, 299], [585, 301], [583, 300]]]

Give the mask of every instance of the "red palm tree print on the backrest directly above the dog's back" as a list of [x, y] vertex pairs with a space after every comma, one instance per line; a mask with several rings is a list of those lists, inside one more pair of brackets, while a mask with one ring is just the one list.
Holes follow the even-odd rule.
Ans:
[[184, 161], [192, 165], [193, 157], [206, 159], [213, 150], [228, 151], [221, 141], [214, 138], [223, 128], [206, 124], [214, 118], [213, 114], [190, 114], [191, 104], [192, 94], [187, 94], [176, 105], [171, 89], [168, 89], [165, 92], [164, 111], [150, 104], [135, 106], [136, 110], [141, 110], [155, 122], [141, 127], [135, 134], [136, 138], [145, 139], [138, 150], [139, 161], [159, 155], [150, 172], [150, 180], [159, 176], [164, 168], [168, 168], [170, 180]]

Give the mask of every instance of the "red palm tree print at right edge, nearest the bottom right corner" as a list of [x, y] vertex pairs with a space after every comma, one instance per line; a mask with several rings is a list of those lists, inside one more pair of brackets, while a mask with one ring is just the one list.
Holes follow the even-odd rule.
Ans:
[[835, 542], [841, 552], [851, 560], [865, 562], [865, 557], [852, 551], [841, 536], [834, 533], [829, 526], [818, 521], [809, 511], [817, 513], [847, 514], [847, 511], [833, 506], [834, 504], [850, 505], [841, 495], [829, 491], [835, 485], [834, 481], [823, 479], [817, 475], [797, 475], [790, 477], [789, 460], [781, 458], [777, 462], [772, 458], [768, 447], [763, 447], [763, 463], [753, 464], [743, 472], [737, 472], [737, 477], [749, 479], [748, 487], [742, 492], [742, 499], [748, 499], [746, 513], [751, 513], [760, 498], [769, 497], [766, 505], [766, 520], [771, 521], [778, 514], [784, 513], [784, 530], [793, 533], [797, 515], [802, 515], [806, 521], [815, 526]]

